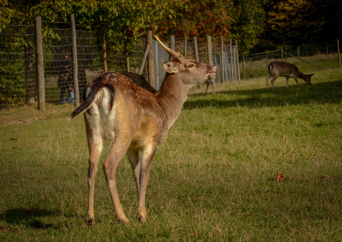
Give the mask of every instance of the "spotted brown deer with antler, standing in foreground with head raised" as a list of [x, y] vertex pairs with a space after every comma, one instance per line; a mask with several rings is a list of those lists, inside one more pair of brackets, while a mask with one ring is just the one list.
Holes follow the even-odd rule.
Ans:
[[172, 61], [161, 63], [166, 75], [156, 94], [133, 85], [123, 74], [103, 73], [84, 89], [82, 105], [69, 116], [71, 119], [83, 113], [86, 124], [90, 152], [87, 225], [95, 224], [94, 183], [104, 139], [111, 142], [102, 167], [116, 220], [128, 222], [115, 181], [116, 167], [127, 153], [138, 195], [137, 219], [146, 222], [145, 193], [157, 147], [166, 140], [189, 88], [215, 77], [216, 66], [187, 59], [166, 47], [157, 36], [155, 38], [172, 57]]

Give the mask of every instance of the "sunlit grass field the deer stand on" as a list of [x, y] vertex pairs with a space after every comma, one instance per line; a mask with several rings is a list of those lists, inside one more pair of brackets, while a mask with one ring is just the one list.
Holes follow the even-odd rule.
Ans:
[[116, 178], [130, 223], [115, 221], [99, 164], [86, 226], [88, 149], [71, 106], [0, 112], [0, 240], [342, 241], [342, 69], [287, 89], [279, 77], [266, 90], [266, 76], [189, 90], [152, 164], [147, 224], [125, 157]]

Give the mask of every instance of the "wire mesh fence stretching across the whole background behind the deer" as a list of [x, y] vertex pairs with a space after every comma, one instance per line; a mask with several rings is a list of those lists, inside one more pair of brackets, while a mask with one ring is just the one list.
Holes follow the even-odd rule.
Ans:
[[[0, 29], [0, 110], [12, 109], [37, 101], [35, 26], [33, 20], [29, 22], [32, 24], [3, 24]], [[100, 38], [96, 36], [94, 31], [83, 29], [85, 29], [83, 26], [76, 25], [80, 97], [82, 97], [82, 92], [87, 83], [104, 70]], [[73, 56], [70, 23], [58, 23], [54, 26], [54, 23], [43, 22], [42, 34], [45, 102], [62, 104], [71, 101], [69, 99], [69, 87], [72, 87], [73, 80]], [[165, 45], [169, 47], [168, 43]], [[175, 39], [175, 51], [185, 55], [186, 58], [195, 59], [194, 46], [193, 38]], [[139, 36], [128, 39], [130, 72], [137, 73], [139, 71], [145, 48], [145, 38]], [[106, 49], [108, 71], [126, 72], [123, 36], [115, 41], [107, 41]], [[165, 76], [165, 69], [161, 62], [170, 60], [170, 57], [157, 41], [153, 40], [152, 49], [154, 88], [158, 90]], [[197, 39], [197, 51], [199, 61], [208, 63], [207, 39]], [[281, 51], [276, 50], [245, 56], [240, 55], [237, 61], [237, 50], [234, 45], [224, 44], [223, 53], [221, 53], [220, 38], [212, 38], [211, 52], [213, 64], [217, 66], [215, 80], [219, 82], [238, 79], [238, 64], [240, 72], [245, 75], [248, 64], [250, 66], [252, 64], [253, 66], [267, 66], [272, 60], [281, 60], [282, 58]], [[333, 43], [323, 47], [288, 51], [288, 54], [298, 57], [336, 53], [337, 45]], [[283, 59], [286, 61], [286, 54], [283, 55]], [[252, 70], [252, 68], [250, 69]], [[143, 68], [142, 75], [147, 79], [147, 68]]]

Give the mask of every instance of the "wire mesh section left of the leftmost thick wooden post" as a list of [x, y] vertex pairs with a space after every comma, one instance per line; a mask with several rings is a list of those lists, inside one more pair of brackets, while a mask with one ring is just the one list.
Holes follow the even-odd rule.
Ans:
[[37, 95], [34, 39], [34, 25], [3, 24], [0, 34], [0, 109], [13, 109], [34, 102]]

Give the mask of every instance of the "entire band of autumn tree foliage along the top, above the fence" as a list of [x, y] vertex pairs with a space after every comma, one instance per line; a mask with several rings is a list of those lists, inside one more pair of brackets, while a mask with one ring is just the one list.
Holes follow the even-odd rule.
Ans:
[[58, 27], [70, 21], [70, 13], [94, 31], [104, 25], [109, 38], [147, 29], [163, 39], [224, 36], [238, 40], [241, 53], [255, 45], [259, 50], [296, 46], [342, 33], [340, 0], [2, 0], [0, 31], [4, 23], [32, 22], [35, 16]]

